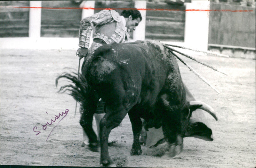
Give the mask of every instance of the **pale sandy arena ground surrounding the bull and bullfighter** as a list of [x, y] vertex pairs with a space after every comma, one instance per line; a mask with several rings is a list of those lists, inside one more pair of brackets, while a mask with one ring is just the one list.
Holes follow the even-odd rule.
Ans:
[[[68, 71], [64, 67], [77, 71], [75, 53], [73, 50], [1, 50], [1, 165], [100, 166], [100, 153], [80, 145], [82, 129], [79, 112], [74, 116], [76, 101], [68, 94], [58, 94], [59, 88], [55, 87], [57, 75]], [[219, 117], [216, 122], [205, 114], [212, 125], [214, 141], [185, 138], [183, 152], [175, 159], [164, 155], [166, 143], [154, 149], [143, 146], [142, 155], [130, 156], [133, 136], [126, 115], [122, 126], [110, 133], [117, 140], [109, 146], [110, 157], [117, 166], [256, 166], [255, 60], [196, 54], [194, 57], [228, 74], [214, 72], [181, 56], [221, 92], [217, 94], [179, 61], [182, 78], [192, 94], [210, 104]], [[65, 83], [60, 81], [59, 87]], [[65, 109], [69, 109], [65, 118], [42, 129], [42, 125]], [[34, 127], [41, 132], [37, 136]]]

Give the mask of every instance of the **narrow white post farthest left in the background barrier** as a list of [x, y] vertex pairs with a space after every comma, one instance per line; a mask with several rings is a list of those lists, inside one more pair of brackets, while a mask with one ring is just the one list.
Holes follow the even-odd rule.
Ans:
[[[30, 1], [30, 7], [41, 7], [41, 1]], [[29, 38], [40, 38], [41, 32], [41, 8], [30, 8], [29, 9]]]

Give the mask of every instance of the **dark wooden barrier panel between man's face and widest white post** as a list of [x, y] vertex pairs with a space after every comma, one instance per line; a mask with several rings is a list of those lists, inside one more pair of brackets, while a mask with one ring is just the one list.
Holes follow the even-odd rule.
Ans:
[[185, 6], [147, 1], [147, 9], [168, 9], [171, 11], [147, 10], [146, 39], [184, 41]]

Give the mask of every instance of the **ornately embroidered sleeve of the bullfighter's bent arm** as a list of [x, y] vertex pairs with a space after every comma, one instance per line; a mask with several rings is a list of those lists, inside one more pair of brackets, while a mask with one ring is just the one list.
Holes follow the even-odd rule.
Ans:
[[113, 17], [110, 10], [101, 10], [90, 17], [86, 17], [80, 22], [79, 46], [89, 48], [91, 32], [94, 26], [100, 26], [111, 22]]

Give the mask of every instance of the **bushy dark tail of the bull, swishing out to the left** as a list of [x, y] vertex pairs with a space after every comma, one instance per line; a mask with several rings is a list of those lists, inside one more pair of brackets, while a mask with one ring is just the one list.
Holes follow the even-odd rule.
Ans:
[[70, 91], [69, 95], [71, 95], [76, 101], [83, 104], [84, 101], [88, 98], [90, 90], [91, 90], [91, 87], [87, 83], [86, 78], [84, 76], [82, 76], [81, 74], [79, 74], [79, 78], [78, 78], [77, 73], [72, 73], [72, 74], [63, 73], [56, 78], [56, 80], [55, 80], [56, 87], [58, 85], [58, 80], [60, 78], [66, 78], [66, 79], [70, 80], [71, 82], [73, 82], [75, 84], [75, 86], [72, 84], [62, 86], [62, 87], [60, 87], [59, 92], [62, 91], [62, 93], [64, 93], [68, 90], [68, 91]]

